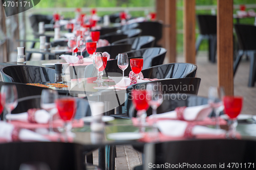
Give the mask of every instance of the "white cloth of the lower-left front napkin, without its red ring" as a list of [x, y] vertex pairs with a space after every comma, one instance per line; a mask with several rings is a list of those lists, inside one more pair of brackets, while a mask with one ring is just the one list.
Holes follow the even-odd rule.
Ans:
[[[7, 141], [12, 141], [12, 131], [14, 126], [6, 122], [0, 122], [0, 138], [5, 138]], [[44, 136], [30, 131], [28, 129], [20, 129], [19, 139], [22, 141], [49, 141]]]

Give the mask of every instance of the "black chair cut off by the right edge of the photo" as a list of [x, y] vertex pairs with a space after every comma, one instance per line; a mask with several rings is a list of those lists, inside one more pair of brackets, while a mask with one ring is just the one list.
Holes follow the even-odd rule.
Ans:
[[236, 74], [237, 68], [242, 56], [245, 54], [250, 58], [250, 73], [248, 87], [253, 87], [256, 76], [256, 27], [252, 25], [234, 25], [238, 37], [239, 51], [234, 62], [233, 74]]

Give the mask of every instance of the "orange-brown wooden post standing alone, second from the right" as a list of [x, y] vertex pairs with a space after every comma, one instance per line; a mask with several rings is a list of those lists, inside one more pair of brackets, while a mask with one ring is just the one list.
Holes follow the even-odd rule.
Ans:
[[183, 51], [186, 63], [196, 64], [196, 1], [183, 1]]

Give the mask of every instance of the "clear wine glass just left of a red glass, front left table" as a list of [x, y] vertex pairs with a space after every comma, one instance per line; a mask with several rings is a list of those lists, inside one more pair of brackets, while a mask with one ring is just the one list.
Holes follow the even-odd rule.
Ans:
[[53, 132], [53, 114], [52, 111], [55, 106], [55, 100], [58, 98], [58, 93], [56, 90], [52, 89], [44, 89], [41, 92], [41, 101], [40, 106], [42, 109], [45, 109], [50, 114], [49, 120], [49, 131], [50, 134], [54, 134]]

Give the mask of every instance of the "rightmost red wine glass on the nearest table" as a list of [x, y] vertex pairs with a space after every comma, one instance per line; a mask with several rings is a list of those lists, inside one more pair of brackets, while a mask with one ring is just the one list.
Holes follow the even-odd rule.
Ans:
[[236, 128], [238, 125], [237, 116], [240, 114], [243, 106], [243, 97], [224, 96], [223, 98], [225, 113], [229, 116], [227, 136], [236, 137]]

